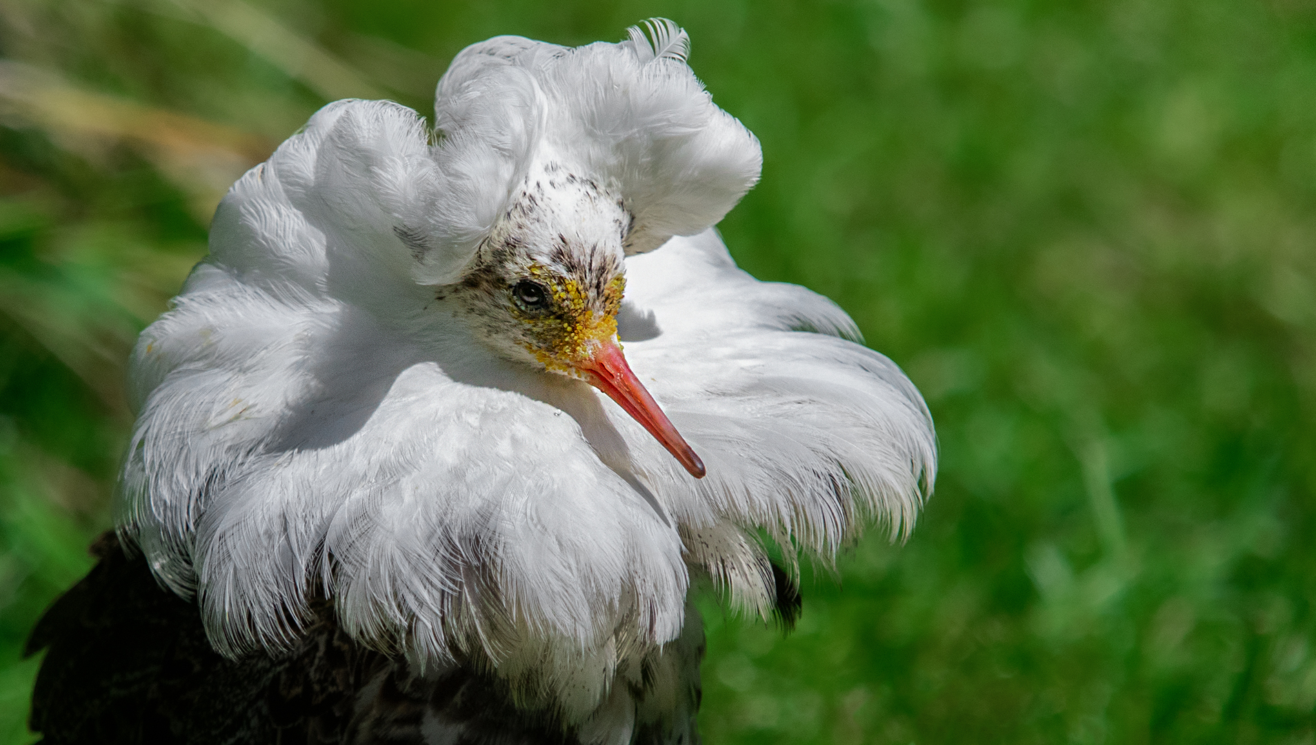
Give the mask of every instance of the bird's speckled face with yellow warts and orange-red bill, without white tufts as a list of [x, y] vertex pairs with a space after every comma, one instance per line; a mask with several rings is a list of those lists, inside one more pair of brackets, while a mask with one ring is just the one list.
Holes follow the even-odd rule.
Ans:
[[636, 419], [695, 478], [704, 463], [632, 372], [617, 342], [626, 288], [625, 201], [586, 171], [546, 159], [441, 290], [497, 354], [588, 382]]

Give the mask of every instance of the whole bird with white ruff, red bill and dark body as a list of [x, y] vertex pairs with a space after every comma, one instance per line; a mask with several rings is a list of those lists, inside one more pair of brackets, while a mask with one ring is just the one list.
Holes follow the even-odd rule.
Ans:
[[495, 37], [432, 128], [330, 103], [232, 187], [29, 640], [42, 742], [697, 742], [692, 595], [790, 625], [801, 555], [909, 533], [928, 407], [736, 266], [762, 149], [688, 55]]

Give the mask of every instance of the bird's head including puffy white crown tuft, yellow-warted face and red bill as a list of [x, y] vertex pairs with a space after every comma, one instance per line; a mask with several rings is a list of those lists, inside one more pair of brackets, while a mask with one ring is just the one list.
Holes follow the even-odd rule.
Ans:
[[399, 237], [417, 279], [486, 345], [594, 384], [701, 478], [617, 344], [624, 259], [717, 222], [758, 180], [762, 154], [686, 64], [686, 32], [654, 18], [629, 37], [463, 50], [436, 99], [440, 208], [407, 217]]

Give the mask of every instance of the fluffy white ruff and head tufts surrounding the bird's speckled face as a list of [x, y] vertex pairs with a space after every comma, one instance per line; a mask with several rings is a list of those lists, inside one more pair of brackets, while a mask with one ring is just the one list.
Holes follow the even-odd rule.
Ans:
[[[758, 142], [684, 32], [650, 36], [475, 45], [438, 145], [411, 109], [338, 101], [225, 197], [134, 350], [118, 507], [221, 652], [286, 645], [322, 592], [362, 642], [491, 666], [582, 720], [682, 633], [691, 570], [769, 612], [758, 530], [829, 558], [869, 520], [909, 529], [936, 470], [921, 398], [833, 303], [736, 269], [709, 225]], [[436, 299], [545, 153], [620, 195], [628, 253], [666, 244], [626, 261], [620, 337], [701, 480]]]

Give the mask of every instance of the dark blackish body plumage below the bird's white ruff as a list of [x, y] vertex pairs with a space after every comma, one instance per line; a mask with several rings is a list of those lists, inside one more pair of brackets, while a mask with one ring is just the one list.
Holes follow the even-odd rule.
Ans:
[[[490, 675], [461, 665], [420, 675], [361, 646], [322, 600], [290, 653], [226, 659], [211, 648], [196, 604], [161, 588], [113, 533], [92, 554], [96, 567], [28, 641], [28, 654], [46, 652], [30, 720], [46, 745], [580, 742], [550, 715], [513, 706]], [[691, 653], [701, 657], [703, 646]], [[697, 682], [690, 695], [694, 712]], [[696, 741], [683, 734], [641, 728], [634, 742]]]

